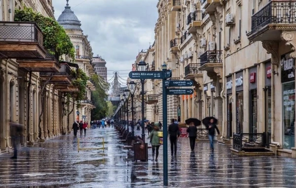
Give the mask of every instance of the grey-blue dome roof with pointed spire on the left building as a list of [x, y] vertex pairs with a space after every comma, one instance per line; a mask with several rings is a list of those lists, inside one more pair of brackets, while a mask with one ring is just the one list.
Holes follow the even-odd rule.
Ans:
[[65, 10], [58, 18], [58, 23], [64, 27], [64, 29], [73, 29], [82, 31], [80, 28], [81, 24], [78, 20], [77, 16], [71, 10], [71, 6], [69, 6], [69, 0], [67, 0], [67, 4], [65, 6]]

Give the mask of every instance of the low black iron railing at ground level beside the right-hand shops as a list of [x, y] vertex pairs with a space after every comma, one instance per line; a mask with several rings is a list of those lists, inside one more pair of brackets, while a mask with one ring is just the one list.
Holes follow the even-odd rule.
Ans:
[[[245, 144], [243, 145], [243, 139]], [[233, 133], [233, 149], [243, 150], [244, 146], [265, 146], [265, 133]]]

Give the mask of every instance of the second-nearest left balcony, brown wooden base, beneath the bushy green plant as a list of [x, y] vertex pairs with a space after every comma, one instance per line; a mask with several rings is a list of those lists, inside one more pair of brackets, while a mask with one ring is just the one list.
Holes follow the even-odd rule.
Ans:
[[[54, 50], [53, 50], [54, 51]], [[33, 72], [59, 72], [59, 55], [46, 53], [45, 59], [17, 59], [19, 68]]]

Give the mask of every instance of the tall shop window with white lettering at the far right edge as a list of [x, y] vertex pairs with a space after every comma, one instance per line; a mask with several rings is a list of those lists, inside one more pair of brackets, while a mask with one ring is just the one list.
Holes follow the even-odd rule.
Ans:
[[283, 84], [283, 148], [295, 146], [295, 82]]

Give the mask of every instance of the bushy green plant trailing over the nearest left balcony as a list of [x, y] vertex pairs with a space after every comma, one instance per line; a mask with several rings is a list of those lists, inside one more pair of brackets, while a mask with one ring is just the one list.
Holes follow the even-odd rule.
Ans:
[[23, 10], [15, 10], [14, 21], [36, 22], [43, 33], [43, 47], [51, 54], [66, 55], [74, 61], [75, 49], [70, 37], [54, 18], [45, 17], [32, 8], [25, 7]]

